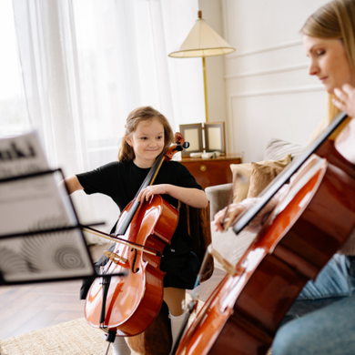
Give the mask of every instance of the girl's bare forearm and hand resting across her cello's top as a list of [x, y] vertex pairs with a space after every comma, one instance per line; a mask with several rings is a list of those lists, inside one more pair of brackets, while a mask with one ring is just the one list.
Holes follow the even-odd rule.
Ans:
[[161, 184], [152, 185], [140, 191], [137, 200], [141, 201], [150, 198], [152, 195], [170, 195], [193, 208], [208, 207], [208, 197], [203, 190], [198, 188], [180, 188], [175, 185]]

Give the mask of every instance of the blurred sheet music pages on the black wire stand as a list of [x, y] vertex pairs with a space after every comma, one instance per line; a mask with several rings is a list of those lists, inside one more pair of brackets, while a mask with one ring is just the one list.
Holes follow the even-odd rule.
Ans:
[[[49, 169], [35, 133], [0, 139], [0, 179]], [[0, 182], [0, 272], [6, 282], [85, 277], [93, 265], [78, 229], [5, 236], [76, 226], [66, 191], [55, 174]]]

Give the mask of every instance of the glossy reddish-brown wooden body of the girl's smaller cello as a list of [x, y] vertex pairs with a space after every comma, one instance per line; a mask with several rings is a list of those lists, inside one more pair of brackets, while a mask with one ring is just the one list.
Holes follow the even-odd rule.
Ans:
[[[122, 212], [117, 228], [131, 205]], [[123, 238], [162, 253], [173, 236], [177, 220], [177, 209], [157, 195], [140, 206]], [[117, 335], [132, 336], [146, 330], [157, 317], [163, 301], [165, 273], [159, 269], [160, 257], [122, 244], [117, 244], [115, 253], [122, 260], [109, 263], [106, 274], [128, 271], [128, 276], [111, 278], [102, 323], [99, 321], [102, 279], [96, 279], [86, 296], [85, 317], [94, 328], [116, 330]]]

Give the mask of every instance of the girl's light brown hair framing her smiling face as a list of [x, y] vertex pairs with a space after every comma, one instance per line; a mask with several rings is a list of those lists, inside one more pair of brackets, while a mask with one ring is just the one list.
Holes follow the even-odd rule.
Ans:
[[174, 142], [174, 133], [167, 118], [151, 106], [141, 106], [130, 112], [127, 117], [126, 133], [125, 137], [122, 137], [121, 139], [121, 147], [118, 151], [118, 161], [129, 161], [136, 157], [133, 148], [127, 143], [127, 138], [131, 137], [132, 133], [137, 129], [139, 122], [149, 121], [154, 118], [157, 118], [164, 127], [164, 150], [167, 151], [171, 143]]

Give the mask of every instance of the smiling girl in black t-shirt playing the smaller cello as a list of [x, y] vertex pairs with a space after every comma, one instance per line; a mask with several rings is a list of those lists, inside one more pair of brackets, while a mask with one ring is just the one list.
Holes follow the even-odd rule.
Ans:
[[[84, 189], [86, 194], [102, 193], [112, 198], [122, 211], [136, 193], [162, 151], [174, 139], [167, 118], [150, 106], [138, 107], [127, 117], [126, 134], [118, 154], [118, 161], [95, 170], [66, 178], [69, 193]], [[162, 195], [177, 207], [177, 200], [194, 208], [206, 208], [208, 198], [188, 169], [176, 161], [164, 162], [154, 185], [144, 188], [138, 201], [152, 195]], [[115, 231], [115, 227], [111, 232]], [[199, 269], [199, 260], [192, 251], [188, 232], [177, 225], [171, 245], [164, 249], [160, 269], [164, 277], [164, 300], [169, 309], [173, 341], [184, 319], [182, 301], [185, 289], [193, 289]], [[86, 291], [81, 295], [86, 297]], [[114, 354], [130, 354], [126, 340], [116, 337]]]

